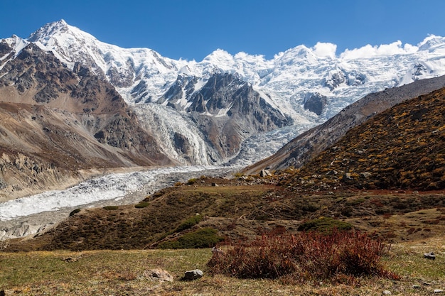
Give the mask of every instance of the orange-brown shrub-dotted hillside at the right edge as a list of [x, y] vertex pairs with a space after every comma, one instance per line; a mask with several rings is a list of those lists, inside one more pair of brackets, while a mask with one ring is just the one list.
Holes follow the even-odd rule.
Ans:
[[287, 185], [301, 182], [318, 187], [443, 190], [445, 88], [398, 104], [352, 128]]

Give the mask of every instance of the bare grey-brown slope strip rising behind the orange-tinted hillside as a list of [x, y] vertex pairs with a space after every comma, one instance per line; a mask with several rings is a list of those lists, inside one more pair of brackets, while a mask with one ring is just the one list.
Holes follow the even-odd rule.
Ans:
[[368, 94], [328, 119], [324, 124], [297, 136], [274, 155], [245, 168], [243, 172], [256, 174], [264, 168], [269, 170], [282, 170], [289, 167], [301, 168], [318, 153], [336, 143], [350, 128], [363, 124], [375, 114], [390, 109], [407, 99], [428, 94], [444, 86], [445, 76], [441, 76], [417, 80], [402, 87]]

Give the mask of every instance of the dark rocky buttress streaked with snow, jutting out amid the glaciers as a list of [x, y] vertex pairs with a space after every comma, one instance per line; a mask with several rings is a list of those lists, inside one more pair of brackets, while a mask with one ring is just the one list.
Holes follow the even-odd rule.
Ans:
[[[250, 136], [291, 124], [271, 102], [238, 75], [224, 72], [213, 73], [205, 84], [196, 77], [178, 75], [156, 101], [191, 117], [203, 135], [201, 141], [212, 151], [207, 155], [209, 163], [234, 157]], [[173, 145], [181, 158], [193, 161], [193, 148], [179, 133], [175, 133]]]

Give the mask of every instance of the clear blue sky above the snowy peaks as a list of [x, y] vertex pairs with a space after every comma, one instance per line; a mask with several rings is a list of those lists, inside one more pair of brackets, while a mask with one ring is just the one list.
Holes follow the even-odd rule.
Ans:
[[1, 0], [0, 38], [65, 19], [101, 41], [200, 61], [218, 48], [275, 54], [317, 42], [346, 48], [445, 35], [444, 0]]

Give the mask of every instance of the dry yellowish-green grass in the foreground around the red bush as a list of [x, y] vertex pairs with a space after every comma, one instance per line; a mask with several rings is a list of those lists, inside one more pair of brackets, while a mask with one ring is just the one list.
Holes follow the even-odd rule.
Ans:
[[[393, 245], [384, 264], [402, 279], [361, 278], [353, 285], [210, 276], [205, 267], [210, 249], [0, 253], [0, 290], [14, 295], [381, 295], [383, 290], [392, 295], [431, 295], [434, 289], [445, 288], [444, 239]], [[436, 253], [435, 261], [423, 258], [429, 251]], [[67, 263], [65, 258], [77, 261]], [[151, 268], [168, 270], [175, 280], [158, 283], [144, 278], [144, 270]], [[205, 276], [193, 282], [179, 280], [194, 268], [204, 270]]]

